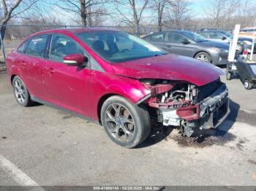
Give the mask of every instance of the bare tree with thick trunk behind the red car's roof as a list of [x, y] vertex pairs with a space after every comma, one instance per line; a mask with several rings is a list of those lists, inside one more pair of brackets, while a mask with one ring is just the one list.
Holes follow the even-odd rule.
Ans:
[[93, 26], [95, 23], [97, 24], [97, 22], [99, 22], [99, 17], [108, 15], [104, 5], [110, 1], [111, 0], [59, 0], [54, 4], [66, 12], [73, 12], [80, 15], [83, 26]]

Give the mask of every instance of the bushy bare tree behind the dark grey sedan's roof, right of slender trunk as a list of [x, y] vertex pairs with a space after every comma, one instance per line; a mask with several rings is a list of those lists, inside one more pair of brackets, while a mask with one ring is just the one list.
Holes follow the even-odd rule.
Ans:
[[168, 16], [171, 23], [174, 23], [176, 28], [181, 29], [181, 26], [184, 26], [192, 17], [189, 5], [190, 3], [187, 0], [172, 1]]

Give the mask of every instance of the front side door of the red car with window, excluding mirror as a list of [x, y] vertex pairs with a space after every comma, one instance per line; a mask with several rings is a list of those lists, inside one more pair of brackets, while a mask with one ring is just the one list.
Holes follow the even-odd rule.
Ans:
[[85, 114], [89, 109], [89, 63], [84, 67], [67, 66], [63, 58], [70, 54], [89, 55], [69, 36], [53, 34], [50, 39], [48, 64], [45, 66], [49, 102]]

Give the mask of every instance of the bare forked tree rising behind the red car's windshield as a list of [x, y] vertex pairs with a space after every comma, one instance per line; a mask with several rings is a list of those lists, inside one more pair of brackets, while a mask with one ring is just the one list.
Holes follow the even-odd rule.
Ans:
[[143, 12], [145, 11], [148, 0], [115, 0], [116, 9], [118, 10], [119, 19], [122, 23], [130, 26], [134, 33], [138, 34], [138, 28], [142, 19]]

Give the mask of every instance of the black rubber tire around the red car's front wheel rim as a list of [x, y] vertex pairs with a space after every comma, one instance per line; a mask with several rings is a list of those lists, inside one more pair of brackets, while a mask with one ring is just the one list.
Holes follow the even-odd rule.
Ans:
[[[132, 114], [133, 120], [135, 121], [135, 130], [134, 130], [134, 136], [131, 140], [118, 141], [109, 132], [105, 122], [105, 111], [108, 108], [108, 106], [110, 106], [111, 104], [121, 104], [129, 110], [130, 114]], [[105, 131], [110, 137], [110, 139], [116, 144], [120, 145], [121, 147], [133, 148], [145, 140], [145, 137], [143, 135], [145, 128], [147, 128], [145, 124], [145, 120], [141, 116], [140, 109], [138, 108], [138, 106], [136, 106], [135, 104], [132, 104], [126, 98], [123, 98], [121, 96], [112, 96], [108, 98], [102, 105], [101, 120], [102, 120], [102, 125], [105, 128]]]

